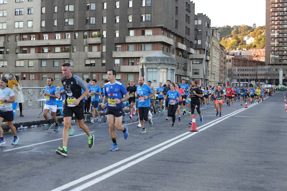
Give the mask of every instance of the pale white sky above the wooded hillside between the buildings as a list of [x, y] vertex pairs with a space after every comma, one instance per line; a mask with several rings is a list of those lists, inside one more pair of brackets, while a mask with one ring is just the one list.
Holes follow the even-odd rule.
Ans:
[[192, 0], [195, 14], [203, 13], [211, 19], [212, 27], [224, 25], [265, 25], [265, 0]]

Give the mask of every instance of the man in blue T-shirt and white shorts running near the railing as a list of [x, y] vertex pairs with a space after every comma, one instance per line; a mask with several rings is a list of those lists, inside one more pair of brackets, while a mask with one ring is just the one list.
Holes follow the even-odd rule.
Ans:
[[47, 78], [47, 85], [45, 89], [45, 93], [43, 94], [46, 98], [46, 104], [43, 109], [43, 116], [48, 122], [48, 129], [51, 129], [53, 126], [53, 123], [51, 123], [49, 116], [47, 115], [48, 112], [51, 110], [51, 115], [56, 123], [54, 131], [59, 130], [59, 125], [58, 125], [58, 119], [56, 117], [56, 112], [57, 112], [57, 102], [56, 102], [56, 91], [57, 89], [55, 86], [53, 86], [53, 78]]

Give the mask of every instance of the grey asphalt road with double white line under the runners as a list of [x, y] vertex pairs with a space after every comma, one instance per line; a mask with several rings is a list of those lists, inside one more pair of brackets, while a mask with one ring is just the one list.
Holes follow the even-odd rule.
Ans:
[[[287, 96], [287, 94], [286, 94]], [[123, 123], [129, 138], [117, 131], [117, 151], [106, 118], [86, 123], [95, 135], [88, 138], [76, 124], [69, 138], [68, 156], [62, 146], [62, 127], [18, 131], [20, 140], [4, 133], [0, 146], [0, 190], [287, 190], [286, 106], [282, 92], [245, 109], [240, 101], [223, 105], [216, 117], [213, 102], [201, 109], [199, 132], [189, 132], [190, 115], [170, 127], [166, 111], [153, 116], [152, 127], [139, 134], [136, 117]]]

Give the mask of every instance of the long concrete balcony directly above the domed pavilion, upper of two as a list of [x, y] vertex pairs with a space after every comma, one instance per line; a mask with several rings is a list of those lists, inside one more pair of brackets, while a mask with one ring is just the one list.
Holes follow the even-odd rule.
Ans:
[[174, 40], [164, 35], [126, 36], [126, 43], [135, 42], [165, 42], [174, 45]]

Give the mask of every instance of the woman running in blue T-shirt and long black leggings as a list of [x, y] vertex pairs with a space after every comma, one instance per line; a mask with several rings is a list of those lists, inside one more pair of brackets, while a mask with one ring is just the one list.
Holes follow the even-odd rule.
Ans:
[[170, 84], [170, 90], [166, 93], [164, 99], [168, 98], [167, 116], [172, 117], [171, 127], [175, 126], [175, 112], [178, 109], [178, 101], [181, 100], [181, 94], [175, 90], [175, 85]]

